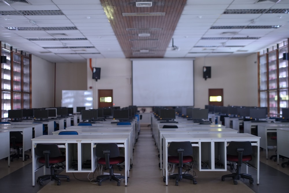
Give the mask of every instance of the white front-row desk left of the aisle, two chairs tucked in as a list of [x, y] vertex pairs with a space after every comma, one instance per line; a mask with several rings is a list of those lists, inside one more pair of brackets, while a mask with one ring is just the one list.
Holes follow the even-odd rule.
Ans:
[[[93, 172], [97, 166], [95, 155], [96, 143], [117, 143], [125, 151], [125, 186], [129, 177], [129, 135], [42, 135], [32, 139], [32, 186], [35, 186], [35, 172], [43, 167], [37, 161], [34, 148], [38, 143], [65, 144], [66, 172]], [[77, 160], [77, 168], [72, 168], [73, 159]], [[91, 159], [91, 168], [83, 168], [83, 161]]]

